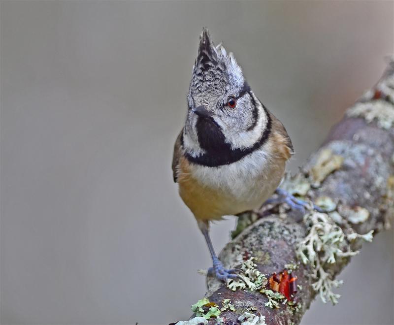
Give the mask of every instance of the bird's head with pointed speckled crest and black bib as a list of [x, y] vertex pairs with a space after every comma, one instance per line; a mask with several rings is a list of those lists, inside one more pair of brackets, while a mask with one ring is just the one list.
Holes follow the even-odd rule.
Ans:
[[188, 94], [183, 146], [190, 161], [218, 166], [235, 162], [261, 141], [269, 116], [232, 53], [200, 35]]

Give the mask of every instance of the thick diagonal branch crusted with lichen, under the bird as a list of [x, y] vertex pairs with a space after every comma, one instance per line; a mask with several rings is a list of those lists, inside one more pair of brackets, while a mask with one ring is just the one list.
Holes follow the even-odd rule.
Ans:
[[[394, 61], [281, 186], [323, 212], [310, 204], [300, 215], [281, 204], [242, 214], [219, 258], [226, 268], [241, 267], [246, 283], [208, 275], [206, 298], [220, 315], [201, 323], [296, 325], [317, 294], [338, 302], [337, 274], [394, 215]], [[275, 282], [290, 283], [290, 269], [297, 283], [289, 300]]]

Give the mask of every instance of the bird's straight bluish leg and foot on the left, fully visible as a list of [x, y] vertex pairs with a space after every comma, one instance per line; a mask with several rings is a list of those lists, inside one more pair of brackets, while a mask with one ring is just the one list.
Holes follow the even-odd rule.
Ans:
[[215, 276], [224, 282], [227, 282], [228, 279], [240, 279], [244, 281], [236, 272], [242, 272], [239, 269], [230, 269], [227, 270], [224, 268], [223, 263], [219, 260], [219, 258], [215, 254], [215, 250], [213, 249], [211, 238], [209, 237], [209, 225], [208, 221], [198, 221], [198, 227], [200, 228], [202, 234], [204, 235], [206, 244], [208, 245], [209, 253], [211, 253], [213, 266], [208, 269], [208, 274], [215, 274]]

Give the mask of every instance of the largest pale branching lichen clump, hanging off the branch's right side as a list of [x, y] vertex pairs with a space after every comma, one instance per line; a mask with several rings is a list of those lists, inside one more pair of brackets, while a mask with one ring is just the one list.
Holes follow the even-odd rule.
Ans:
[[336, 304], [340, 295], [333, 293], [332, 289], [339, 287], [342, 281], [333, 279], [328, 272], [328, 266], [341, 258], [358, 254], [358, 251], [350, 249], [349, 241], [356, 238], [370, 241], [372, 232], [360, 235], [350, 230], [349, 234], [345, 235], [328, 214], [319, 212], [306, 214], [304, 223], [308, 227], [308, 234], [297, 246], [297, 257], [304, 264], [312, 266], [311, 277], [315, 280], [312, 288], [319, 292], [322, 301], [330, 300], [332, 304]]

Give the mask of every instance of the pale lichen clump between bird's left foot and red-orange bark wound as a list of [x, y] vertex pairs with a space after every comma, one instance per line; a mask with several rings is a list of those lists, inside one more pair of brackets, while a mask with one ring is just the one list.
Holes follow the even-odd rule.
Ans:
[[239, 276], [241, 279], [229, 279], [227, 287], [236, 291], [237, 289], [249, 289], [250, 291], [256, 291], [262, 288], [267, 283], [267, 278], [262, 272], [257, 269], [257, 265], [254, 263], [256, 258], [251, 257], [249, 260], [245, 260], [241, 264], [241, 270], [244, 272]]

